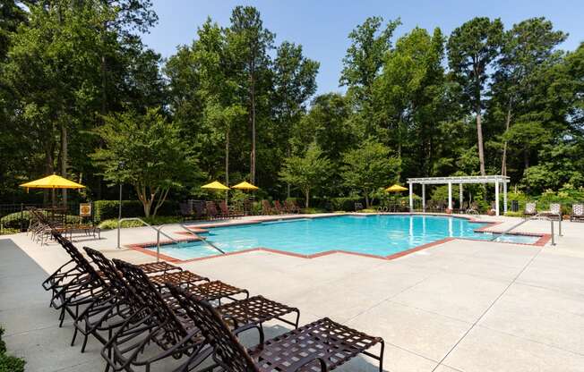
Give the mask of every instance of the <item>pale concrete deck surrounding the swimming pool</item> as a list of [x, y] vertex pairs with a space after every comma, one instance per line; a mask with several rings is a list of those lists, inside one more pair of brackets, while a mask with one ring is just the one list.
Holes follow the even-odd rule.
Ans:
[[[477, 219], [496, 223], [485, 228], [492, 232], [520, 221]], [[545, 234], [549, 225], [529, 221], [517, 231]], [[178, 226], [164, 231], [185, 238]], [[56, 311], [47, 308], [48, 295], [39, 287], [45, 273], [67, 259], [64, 250], [40, 247], [25, 234], [2, 238], [0, 324], [9, 350], [28, 359], [29, 371], [102, 371], [97, 342], [84, 354], [79, 346], [71, 348], [71, 325], [56, 326]], [[345, 253], [307, 259], [253, 250], [180, 266], [295, 306], [301, 324], [327, 316], [382, 336], [386, 371], [581, 372], [584, 224], [564, 221], [563, 236], [555, 239], [555, 246], [454, 239], [391, 260]], [[156, 241], [149, 228], [122, 232], [123, 245], [148, 241]], [[76, 245], [134, 263], [152, 260], [135, 249], [116, 249], [116, 231]], [[270, 334], [281, 332], [280, 325], [269, 328]], [[375, 366], [359, 358], [338, 370]]]

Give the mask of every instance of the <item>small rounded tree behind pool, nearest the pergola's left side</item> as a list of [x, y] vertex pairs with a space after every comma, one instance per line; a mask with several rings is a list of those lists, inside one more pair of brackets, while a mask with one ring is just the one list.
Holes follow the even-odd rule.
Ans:
[[374, 191], [399, 179], [401, 162], [390, 153], [390, 148], [367, 140], [343, 156], [341, 176], [348, 187], [363, 192], [366, 207], [371, 206]]

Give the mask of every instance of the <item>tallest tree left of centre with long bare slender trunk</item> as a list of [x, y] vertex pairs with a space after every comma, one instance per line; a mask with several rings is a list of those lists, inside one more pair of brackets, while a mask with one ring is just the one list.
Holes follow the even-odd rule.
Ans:
[[[256, 114], [258, 93], [262, 93], [262, 80], [268, 71], [275, 35], [263, 28], [260, 13], [253, 6], [236, 6], [231, 13], [231, 27], [228, 29], [228, 44], [231, 53], [241, 62], [245, 74], [249, 124], [252, 131], [252, 151], [250, 154], [250, 179], [255, 183], [256, 163]], [[258, 89], [260, 88], [260, 89]], [[258, 91], [260, 90], [260, 91]]]

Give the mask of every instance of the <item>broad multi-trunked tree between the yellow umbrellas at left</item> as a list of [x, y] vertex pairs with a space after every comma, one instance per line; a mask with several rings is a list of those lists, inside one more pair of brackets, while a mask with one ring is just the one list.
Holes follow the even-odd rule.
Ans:
[[105, 144], [91, 155], [95, 165], [108, 182], [133, 185], [144, 216], [156, 216], [168, 191], [197, 173], [178, 127], [158, 109], [108, 115], [95, 132]]

